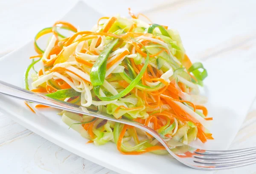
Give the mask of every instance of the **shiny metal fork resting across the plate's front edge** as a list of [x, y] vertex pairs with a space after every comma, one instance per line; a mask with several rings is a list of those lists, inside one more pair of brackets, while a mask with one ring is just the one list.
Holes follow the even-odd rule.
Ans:
[[166, 148], [169, 154], [171, 154], [176, 160], [192, 168], [201, 170], [220, 170], [227, 168], [237, 168], [256, 163], [256, 147], [229, 151], [207, 151], [193, 148], [173, 139], [165, 139], [164, 137], [161, 137], [156, 131], [141, 123], [123, 118], [116, 119], [109, 114], [99, 114], [95, 111], [89, 111], [90, 113], [85, 113], [78, 105], [67, 103], [61, 100], [54, 100], [44, 95], [22, 89], [3, 81], [0, 81], [0, 94], [140, 128], [156, 138]]

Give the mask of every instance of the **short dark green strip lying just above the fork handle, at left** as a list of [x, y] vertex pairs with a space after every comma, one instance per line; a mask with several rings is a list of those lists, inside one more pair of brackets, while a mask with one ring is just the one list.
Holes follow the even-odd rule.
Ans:
[[58, 90], [58, 91], [50, 93], [50, 94], [46, 94], [47, 97], [51, 97], [51, 98], [55, 98], [55, 99], [63, 99], [63, 98], [67, 98], [67, 97], [76, 97], [76, 96], [79, 96], [79, 95], [81, 95], [81, 93], [76, 91], [73, 88], [62, 89], [62, 90]]

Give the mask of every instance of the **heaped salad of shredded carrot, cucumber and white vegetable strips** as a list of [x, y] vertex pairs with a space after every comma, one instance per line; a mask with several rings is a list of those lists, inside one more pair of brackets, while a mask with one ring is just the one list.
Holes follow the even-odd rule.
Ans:
[[[131, 18], [102, 17], [91, 31], [65, 21], [39, 31], [34, 42], [38, 55], [30, 57], [26, 89], [75, 103], [85, 112], [90, 108], [137, 121], [166, 140], [189, 144], [213, 139], [207, 129], [212, 117], [202, 105], [207, 99], [198, 88], [207, 77], [202, 63], [191, 63], [177, 31], [146, 23], [130, 9], [129, 14]], [[72, 34], [67, 37], [61, 30]], [[38, 39], [45, 34], [51, 36], [41, 48]], [[35, 64], [40, 65], [38, 71]], [[29, 73], [32, 69], [35, 73]], [[87, 143], [112, 141], [122, 154], [166, 152], [154, 137], [132, 126], [67, 111], [59, 114], [90, 139]]]

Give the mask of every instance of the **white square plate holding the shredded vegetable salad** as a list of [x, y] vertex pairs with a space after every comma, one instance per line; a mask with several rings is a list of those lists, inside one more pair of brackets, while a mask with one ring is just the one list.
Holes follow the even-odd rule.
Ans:
[[[85, 16], [90, 16], [90, 18], [85, 19]], [[84, 3], [79, 2], [64, 16], [63, 20], [79, 26], [82, 30], [90, 30], [101, 16]], [[2, 57], [0, 59], [0, 80], [23, 87], [24, 72], [31, 63], [29, 57], [32, 55], [35, 55], [35, 51], [31, 41]], [[211, 132], [215, 140], [208, 141], [204, 145], [196, 141], [195, 146], [209, 150], [226, 149], [239, 130], [256, 94], [253, 80], [251, 80], [253, 74], [256, 73], [256, 68], [252, 67], [256, 65], [256, 61], [246, 62], [245, 59], [241, 59], [242, 55], [244, 54], [237, 53], [225, 58], [215, 57], [204, 62], [209, 74], [205, 80], [205, 91], [209, 97], [207, 107], [209, 117], [214, 118]], [[248, 66], [250, 68], [247, 68]], [[246, 83], [246, 89], [244, 83]], [[117, 151], [113, 143], [102, 146], [85, 144], [87, 140], [68, 129], [54, 109], [41, 110], [37, 111], [38, 114], [33, 114], [26, 108], [23, 101], [0, 95], [0, 111], [62, 148], [122, 174], [207, 173], [188, 168], [169, 156], [150, 153], [125, 156]]]

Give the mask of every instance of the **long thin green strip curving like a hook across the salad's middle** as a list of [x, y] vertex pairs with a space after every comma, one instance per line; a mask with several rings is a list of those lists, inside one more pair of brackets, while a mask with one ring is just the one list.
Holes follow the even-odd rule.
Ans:
[[119, 98], [125, 96], [126, 94], [128, 94], [140, 82], [140, 79], [142, 78], [144, 72], [146, 71], [146, 68], [148, 66], [148, 60], [149, 60], [148, 50], [145, 48], [145, 46], [143, 46], [143, 47], [147, 51], [147, 57], [145, 59], [145, 64], [142, 67], [140, 73], [137, 75], [137, 77], [135, 77], [134, 80], [131, 81], [131, 83], [129, 84], [129, 86], [127, 86], [127, 88], [125, 88], [124, 90], [119, 92], [119, 94], [116, 94], [114, 96], [111, 96], [111, 97], [101, 97], [99, 95], [100, 86], [93, 86], [93, 90], [94, 90], [95, 94], [99, 97], [100, 100], [111, 101], [111, 100], [119, 99]]

